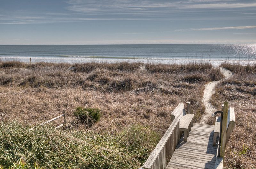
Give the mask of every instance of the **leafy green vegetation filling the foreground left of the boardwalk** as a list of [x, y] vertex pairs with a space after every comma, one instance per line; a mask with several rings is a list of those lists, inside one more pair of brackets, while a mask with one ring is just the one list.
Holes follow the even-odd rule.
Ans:
[[138, 168], [160, 138], [140, 125], [114, 135], [49, 126], [28, 131], [29, 127], [15, 121], [0, 123], [0, 164], [4, 168], [18, 160], [16, 166], [28, 168], [35, 168], [35, 163], [47, 168]]

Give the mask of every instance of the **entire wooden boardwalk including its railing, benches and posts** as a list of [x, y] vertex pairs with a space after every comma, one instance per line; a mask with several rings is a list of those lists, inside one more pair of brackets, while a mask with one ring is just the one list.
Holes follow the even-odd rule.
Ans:
[[[223, 169], [225, 147], [235, 126], [234, 107], [228, 107], [228, 102], [224, 102], [222, 111], [214, 113], [221, 114], [222, 127], [221, 139], [218, 138], [220, 145], [213, 146], [215, 126], [196, 123], [193, 125], [193, 118], [186, 118], [194, 115], [191, 102], [186, 104], [187, 110], [183, 103], [179, 103], [172, 111], [171, 125], [141, 169]], [[187, 141], [184, 141], [184, 137], [180, 138], [181, 131], [187, 133]], [[217, 153], [217, 150], [220, 151]]]

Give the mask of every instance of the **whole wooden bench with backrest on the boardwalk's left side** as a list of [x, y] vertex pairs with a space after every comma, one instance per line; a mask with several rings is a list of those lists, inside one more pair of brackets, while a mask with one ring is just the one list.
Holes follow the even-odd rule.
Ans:
[[179, 119], [180, 121], [180, 137], [182, 136], [182, 132], [184, 132], [184, 141], [187, 141], [189, 131], [191, 131], [194, 121], [194, 113], [191, 102], [187, 102], [187, 114], [185, 112], [184, 104], [179, 103], [179, 105], [171, 113], [172, 122], [175, 118]]

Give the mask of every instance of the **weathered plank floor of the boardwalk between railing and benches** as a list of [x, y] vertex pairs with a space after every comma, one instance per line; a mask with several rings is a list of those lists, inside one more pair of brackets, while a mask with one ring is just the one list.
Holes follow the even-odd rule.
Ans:
[[217, 146], [213, 146], [214, 126], [194, 123], [187, 142], [180, 139], [166, 169], [215, 168]]

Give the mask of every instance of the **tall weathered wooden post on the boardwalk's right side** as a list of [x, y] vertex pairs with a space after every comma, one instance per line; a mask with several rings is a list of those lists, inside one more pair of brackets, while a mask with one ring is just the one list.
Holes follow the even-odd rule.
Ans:
[[224, 158], [226, 146], [226, 133], [228, 123], [228, 102], [224, 102], [223, 115], [222, 115], [222, 129], [221, 129], [221, 143], [220, 143], [220, 157]]

